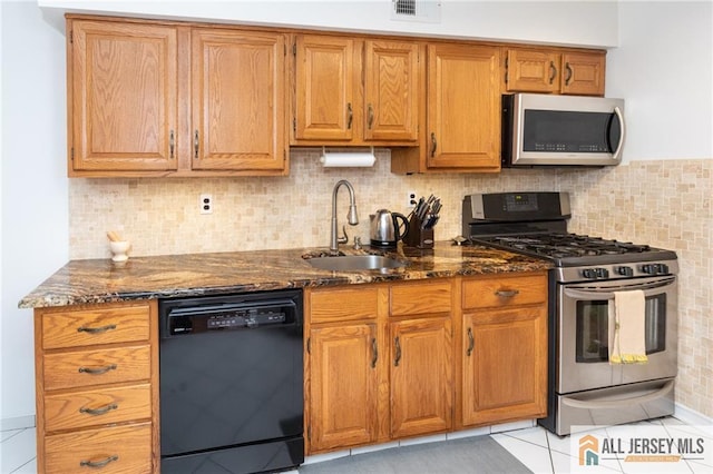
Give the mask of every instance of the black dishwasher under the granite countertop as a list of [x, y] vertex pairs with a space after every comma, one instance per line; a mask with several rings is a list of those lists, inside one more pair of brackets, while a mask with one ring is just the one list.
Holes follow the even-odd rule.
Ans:
[[302, 292], [162, 299], [164, 473], [304, 462]]

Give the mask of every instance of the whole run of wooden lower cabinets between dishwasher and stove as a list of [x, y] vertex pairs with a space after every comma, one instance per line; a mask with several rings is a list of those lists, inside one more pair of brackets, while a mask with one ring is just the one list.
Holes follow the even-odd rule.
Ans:
[[546, 415], [547, 274], [305, 290], [306, 454]]

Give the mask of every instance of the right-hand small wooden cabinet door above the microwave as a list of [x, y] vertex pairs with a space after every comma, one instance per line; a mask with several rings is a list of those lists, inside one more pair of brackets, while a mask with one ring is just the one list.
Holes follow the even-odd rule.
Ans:
[[561, 93], [604, 96], [605, 67], [604, 52], [561, 55]]

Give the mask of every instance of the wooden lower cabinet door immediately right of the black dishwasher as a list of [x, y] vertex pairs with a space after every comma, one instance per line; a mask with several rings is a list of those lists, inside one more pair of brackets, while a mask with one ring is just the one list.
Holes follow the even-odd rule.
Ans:
[[375, 324], [310, 332], [310, 452], [375, 441]]

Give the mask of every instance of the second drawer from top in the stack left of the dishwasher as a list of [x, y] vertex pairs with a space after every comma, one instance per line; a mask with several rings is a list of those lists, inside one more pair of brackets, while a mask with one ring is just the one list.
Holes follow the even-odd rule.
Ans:
[[45, 355], [45, 389], [82, 387], [150, 377], [148, 345]]

